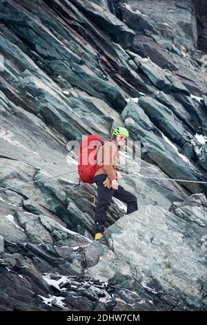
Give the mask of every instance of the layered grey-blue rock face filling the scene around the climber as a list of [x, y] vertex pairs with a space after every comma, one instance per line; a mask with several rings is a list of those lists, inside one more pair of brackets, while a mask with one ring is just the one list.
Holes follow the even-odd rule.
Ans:
[[[0, 310], [207, 309], [206, 10], [0, 2]], [[119, 166], [139, 209], [113, 198], [95, 242], [68, 141], [117, 126], [140, 141]]]

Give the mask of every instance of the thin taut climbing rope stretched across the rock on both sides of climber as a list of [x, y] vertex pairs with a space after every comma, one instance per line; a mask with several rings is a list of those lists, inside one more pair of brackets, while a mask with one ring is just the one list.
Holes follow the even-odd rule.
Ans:
[[[50, 177], [47, 177], [47, 178], [43, 178], [43, 179], [37, 179], [36, 181], [32, 181], [32, 182], [26, 182], [26, 183], [22, 183], [22, 184], [19, 184], [19, 185], [15, 185], [15, 186], [9, 186], [9, 187], [1, 187], [0, 188], [0, 191], [5, 191], [5, 190], [8, 190], [8, 189], [12, 189], [12, 188], [17, 188], [19, 186], [27, 186], [28, 184], [34, 184], [34, 183], [37, 183], [37, 182], [43, 182], [43, 181], [46, 181], [47, 179], [52, 179], [52, 178], [56, 178], [56, 177], [61, 177], [61, 176], [64, 176], [64, 175], [68, 175], [68, 174], [71, 174], [71, 173], [75, 173], [77, 172], [77, 169], [75, 170], [72, 170], [68, 173], [64, 173], [64, 174], [59, 174], [59, 175], [55, 175], [55, 176], [50, 176]], [[144, 177], [144, 178], [148, 178], [148, 179], [164, 179], [166, 181], [175, 181], [175, 182], [190, 182], [190, 183], [201, 183], [201, 184], [207, 184], [207, 182], [203, 182], [203, 181], [193, 181], [193, 180], [190, 180], [190, 179], [176, 179], [176, 178], [166, 178], [166, 177], [152, 177], [152, 176], [144, 176], [144, 175], [141, 175], [139, 173], [134, 173], [133, 175], [138, 175], [140, 177]], [[79, 182], [80, 182], [80, 179], [79, 179]]]

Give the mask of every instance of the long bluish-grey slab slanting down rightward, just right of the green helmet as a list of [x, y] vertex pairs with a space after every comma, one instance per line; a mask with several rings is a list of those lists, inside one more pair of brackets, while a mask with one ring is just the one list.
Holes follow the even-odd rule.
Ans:
[[[126, 128], [132, 132], [132, 137], [143, 144], [144, 149], [142, 150], [152, 161], [156, 161], [158, 166], [168, 175], [175, 179], [192, 180], [196, 180], [200, 177], [199, 175], [202, 175], [198, 166], [194, 166], [191, 161], [186, 160], [168, 137], [152, 124], [139, 103], [137, 105], [131, 100], [121, 116], [124, 118]], [[166, 161], [168, 161], [167, 164]], [[195, 193], [199, 191], [199, 184], [186, 182], [184, 186]]]

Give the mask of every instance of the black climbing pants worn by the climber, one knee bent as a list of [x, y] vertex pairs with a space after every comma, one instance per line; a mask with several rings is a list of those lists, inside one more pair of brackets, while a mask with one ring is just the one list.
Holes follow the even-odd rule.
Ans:
[[126, 214], [138, 210], [137, 197], [126, 191], [121, 185], [117, 190], [105, 187], [103, 181], [106, 177], [106, 174], [99, 174], [94, 178], [98, 190], [98, 202], [95, 211], [95, 229], [97, 232], [106, 226], [106, 209], [110, 206], [113, 196], [127, 204]]

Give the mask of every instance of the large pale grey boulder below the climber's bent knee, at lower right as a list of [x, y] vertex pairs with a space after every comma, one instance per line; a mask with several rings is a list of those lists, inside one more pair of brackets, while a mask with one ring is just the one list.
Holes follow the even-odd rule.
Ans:
[[[206, 201], [204, 195], [200, 197]], [[185, 211], [185, 207], [193, 200], [194, 197], [191, 201], [186, 200], [181, 204], [181, 211]], [[198, 208], [196, 204], [195, 202], [195, 209]], [[198, 218], [202, 220], [202, 225], [201, 222], [196, 221], [199, 236], [205, 234], [203, 223], [206, 225], [207, 214], [204, 211], [206, 208], [202, 206], [197, 210], [197, 220]], [[178, 290], [177, 294], [186, 306], [189, 304], [187, 298], [190, 297], [191, 307], [196, 306], [200, 301], [200, 307], [205, 309], [205, 303], [201, 302], [206, 292], [206, 265], [205, 255], [200, 245], [201, 237], [189, 238], [190, 231], [194, 229], [191, 220], [185, 217], [186, 214], [179, 214], [178, 220], [177, 209], [173, 209], [173, 212], [176, 215], [160, 207], [149, 205], [141, 211], [118, 220], [115, 225], [107, 229], [104, 236], [106, 240], [101, 238], [99, 241], [99, 245], [107, 245], [108, 250], [106, 249], [103, 255], [101, 253], [97, 265], [88, 268], [88, 274], [95, 276], [96, 279], [119, 283], [121, 279], [122, 281], [128, 279], [129, 273], [135, 272], [130, 278], [131, 282], [128, 281], [130, 288], [135, 288], [137, 281], [154, 293], [160, 290], [168, 292], [174, 288]], [[152, 222], [155, 215], [156, 226]], [[190, 241], [191, 245], [189, 245]], [[87, 249], [90, 247], [92, 246]], [[107, 269], [104, 267], [106, 261]], [[152, 308], [156, 308], [156, 305]]]

